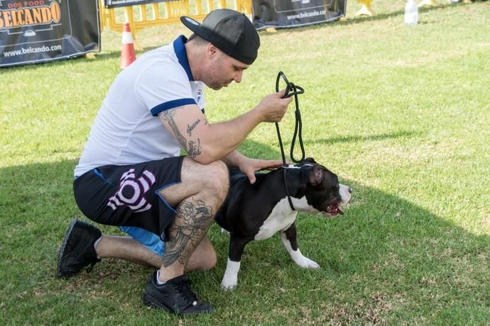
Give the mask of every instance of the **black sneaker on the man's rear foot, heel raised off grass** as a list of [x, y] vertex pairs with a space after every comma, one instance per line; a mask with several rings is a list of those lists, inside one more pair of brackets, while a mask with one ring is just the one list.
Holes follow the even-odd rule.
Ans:
[[87, 271], [91, 271], [94, 264], [100, 262], [94, 249], [94, 243], [100, 237], [102, 232], [94, 225], [77, 219], [72, 220], [58, 252], [58, 276], [75, 275], [89, 264]]

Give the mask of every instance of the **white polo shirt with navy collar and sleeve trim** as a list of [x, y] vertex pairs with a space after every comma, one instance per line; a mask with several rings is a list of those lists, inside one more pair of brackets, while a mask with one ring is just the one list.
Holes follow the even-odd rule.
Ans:
[[204, 112], [204, 83], [190, 72], [180, 35], [146, 52], [114, 80], [75, 167], [75, 177], [102, 165], [137, 164], [175, 157], [180, 144], [163, 126], [161, 111], [197, 104]]

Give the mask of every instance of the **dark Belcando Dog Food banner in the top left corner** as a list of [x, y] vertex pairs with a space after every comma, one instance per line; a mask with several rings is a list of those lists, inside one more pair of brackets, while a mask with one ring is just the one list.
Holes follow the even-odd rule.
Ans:
[[0, 67], [99, 49], [97, 0], [0, 0]]

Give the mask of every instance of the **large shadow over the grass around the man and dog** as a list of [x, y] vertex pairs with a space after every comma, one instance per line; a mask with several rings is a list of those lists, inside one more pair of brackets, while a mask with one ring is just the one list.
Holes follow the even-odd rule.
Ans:
[[[278, 154], [252, 141], [242, 151], [251, 157]], [[104, 259], [92, 274], [54, 277], [65, 229], [72, 218], [81, 217], [72, 199], [74, 166], [74, 161], [62, 161], [0, 169], [0, 314], [9, 316], [11, 324], [70, 324], [101, 315], [111, 315], [115, 324], [156, 318], [177, 322], [178, 317], [141, 305], [150, 268]], [[260, 315], [261, 323], [281, 318], [295, 323], [307, 309], [311, 322], [376, 324], [415, 318], [429, 324], [483, 324], [489, 302], [489, 238], [396, 194], [360, 181], [346, 183], [354, 196], [344, 216], [329, 220], [301, 213], [297, 220], [300, 249], [320, 270], [299, 269], [273, 237], [246, 247], [239, 286], [225, 293], [219, 283], [228, 238], [212, 226], [217, 267], [191, 274], [200, 297], [217, 307], [212, 322], [238, 325]], [[116, 232], [115, 227], [101, 228]], [[196, 321], [209, 322], [206, 318]]]

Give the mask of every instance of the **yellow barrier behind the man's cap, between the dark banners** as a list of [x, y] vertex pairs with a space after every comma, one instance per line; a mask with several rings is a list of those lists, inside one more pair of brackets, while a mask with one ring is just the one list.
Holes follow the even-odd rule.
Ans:
[[252, 13], [251, 0], [182, 0], [165, 1], [157, 4], [141, 4], [123, 8], [107, 9], [104, 0], [99, 1], [102, 29], [122, 32], [123, 23], [129, 23], [133, 40], [142, 28], [162, 26], [180, 21], [180, 16], [190, 16], [197, 21], [214, 9], [234, 9], [247, 15]]

